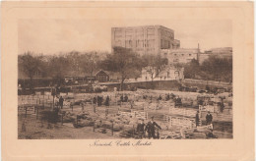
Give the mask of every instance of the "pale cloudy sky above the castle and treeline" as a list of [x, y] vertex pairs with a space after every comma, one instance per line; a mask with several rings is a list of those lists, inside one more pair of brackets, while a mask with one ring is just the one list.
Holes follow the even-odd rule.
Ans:
[[160, 25], [174, 30], [181, 48], [202, 51], [232, 47], [231, 22], [224, 20], [21, 20], [19, 54], [27, 51], [58, 54], [69, 51], [111, 51], [111, 27]]

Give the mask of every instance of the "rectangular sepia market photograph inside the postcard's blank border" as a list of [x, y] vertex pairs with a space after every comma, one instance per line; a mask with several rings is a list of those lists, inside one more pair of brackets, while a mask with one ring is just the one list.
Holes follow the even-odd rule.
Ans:
[[232, 138], [230, 21], [18, 27], [19, 139]]

